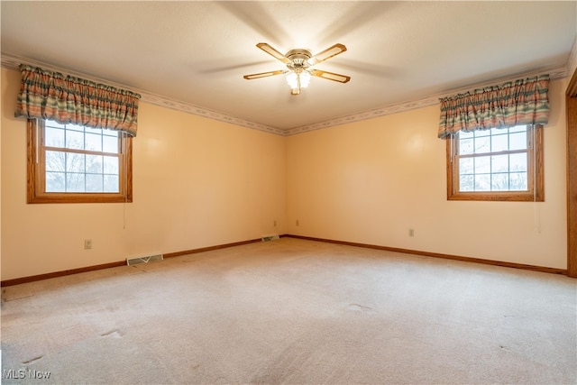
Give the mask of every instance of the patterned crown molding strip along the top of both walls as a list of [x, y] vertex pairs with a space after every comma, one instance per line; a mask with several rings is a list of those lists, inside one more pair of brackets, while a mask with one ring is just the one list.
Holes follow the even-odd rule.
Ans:
[[326, 120], [323, 122], [319, 122], [316, 124], [307, 124], [307, 125], [303, 125], [300, 127], [287, 129], [287, 130], [280, 129], [278, 127], [272, 127], [272, 126], [266, 125], [266, 124], [259, 124], [259, 123], [250, 122], [250, 121], [247, 121], [247, 120], [244, 120], [244, 119], [232, 116], [232, 115], [224, 114], [220, 111], [208, 109], [208, 108], [203, 107], [201, 105], [193, 105], [190, 103], [181, 102], [178, 100], [170, 99], [169, 97], [152, 94], [151, 92], [148, 92], [148, 91], [145, 91], [142, 89], [138, 89], [138, 88], [134, 88], [134, 87], [128, 87], [126, 85], [114, 83], [114, 82], [111, 82], [111, 81], [106, 80], [106, 79], [91, 77], [87, 74], [83, 74], [83, 73], [80, 73], [80, 72], [77, 72], [74, 70], [65, 69], [65, 68], [61, 68], [61, 67], [55, 67], [55, 66], [52, 66], [48, 63], [45, 63], [45, 62], [42, 62], [39, 60], [31, 60], [28, 58], [19, 57], [19, 56], [11, 55], [11, 54], [4, 53], [4, 52], [2, 53], [1, 65], [5, 69], [19, 70], [20, 64], [27, 64], [30, 66], [41, 67], [43, 69], [49, 69], [49, 70], [56, 71], [56, 72], [63, 72], [63, 73], [69, 74], [73, 77], [85, 78], [87, 80], [91, 80], [91, 81], [94, 81], [96, 83], [104, 83], [104, 84], [107, 84], [107, 85], [110, 85], [113, 87], [126, 89], [126, 90], [129, 90], [129, 91], [134, 92], [136, 94], [140, 94], [142, 96], [141, 100], [143, 102], [150, 103], [151, 105], [159, 105], [161, 107], [177, 110], [177, 111], [184, 112], [187, 114], [203, 116], [203, 117], [206, 117], [208, 119], [213, 119], [213, 120], [217, 120], [217, 121], [221, 121], [221, 122], [225, 122], [225, 123], [230, 123], [230, 124], [236, 124], [236, 125], [240, 125], [243, 127], [252, 128], [254, 130], [263, 131], [266, 133], [274, 133], [274, 134], [281, 135], [281, 136], [289, 136], [289, 135], [295, 135], [298, 133], [307, 133], [309, 131], [316, 131], [316, 130], [320, 130], [323, 128], [332, 127], [335, 125], [360, 122], [363, 120], [373, 119], [373, 118], [384, 116], [384, 115], [398, 114], [398, 113], [401, 113], [404, 111], [414, 110], [414, 109], [426, 107], [429, 105], [436, 105], [439, 103], [439, 98], [441, 98], [441, 97], [452, 96], [455, 94], [461, 94], [463, 92], [471, 91], [472, 89], [475, 89], [475, 88], [481, 88], [481, 87], [487, 87], [490, 85], [494, 85], [495, 83], [507, 82], [507, 81], [510, 81], [512, 78], [529, 78], [529, 77], [544, 75], [544, 74], [549, 74], [549, 77], [552, 80], [558, 79], [558, 78], [566, 78], [567, 74], [568, 74], [569, 67], [572, 64], [575, 64], [575, 61], [577, 61], [576, 57], [577, 57], [577, 39], [575, 40], [575, 43], [573, 43], [572, 52], [571, 52], [571, 55], [570, 55], [570, 58], [569, 58], [567, 64], [565, 66], [562, 66], [562, 67], [534, 70], [534, 71], [530, 71], [530, 72], [520, 73], [520, 74], [517, 74], [515, 76], [508, 76], [506, 78], [497, 78], [497, 79], [491, 80], [490, 82], [473, 84], [469, 87], [463, 87], [463, 88], [458, 88], [458, 89], [451, 89], [451, 90], [448, 90], [447, 92], [444, 92], [443, 94], [439, 94], [439, 95], [435, 95], [435, 96], [427, 96], [424, 98], [417, 98], [414, 100], [408, 100], [408, 101], [394, 104], [394, 105], [386, 105], [386, 106], [383, 106], [380, 108], [374, 108], [374, 109], [371, 109], [369, 111], [364, 111], [364, 112], [361, 112], [358, 114], [346, 115], [346, 116]]

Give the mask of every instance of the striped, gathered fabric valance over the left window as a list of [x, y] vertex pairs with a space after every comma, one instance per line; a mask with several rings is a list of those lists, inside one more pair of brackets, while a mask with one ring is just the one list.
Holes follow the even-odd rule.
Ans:
[[131, 91], [21, 65], [15, 116], [118, 130], [136, 136], [138, 99]]

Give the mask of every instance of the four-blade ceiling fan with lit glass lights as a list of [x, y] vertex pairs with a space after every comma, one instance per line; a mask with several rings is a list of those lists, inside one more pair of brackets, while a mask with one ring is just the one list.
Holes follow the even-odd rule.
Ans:
[[334, 56], [343, 53], [346, 50], [346, 47], [343, 44], [334, 44], [334, 46], [317, 53], [315, 56], [311, 55], [310, 51], [303, 49], [289, 50], [289, 52], [283, 55], [266, 42], [260, 42], [256, 46], [267, 52], [276, 60], [282, 61], [287, 65], [287, 69], [244, 75], [243, 78], [245, 79], [251, 80], [253, 78], [266, 78], [273, 75], [287, 74], [287, 82], [290, 86], [290, 95], [299, 95], [300, 88], [308, 86], [311, 76], [334, 80], [339, 83], [346, 83], [351, 80], [351, 77], [345, 75], [312, 68], [318, 63], [329, 60]]

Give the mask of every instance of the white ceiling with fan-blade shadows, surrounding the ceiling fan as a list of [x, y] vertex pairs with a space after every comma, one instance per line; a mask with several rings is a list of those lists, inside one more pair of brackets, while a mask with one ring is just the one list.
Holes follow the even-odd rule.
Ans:
[[[2, 0], [1, 15], [3, 62], [66, 69], [285, 133], [494, 79], [563, 73], [577, 33], [577, 1]], [[313, 78], [299, 96], [282, 75], [246, 80], [284, 69], [258, 42], [313, 54], [342, 43], [348, 50], [316, 68], [352, 79]]]

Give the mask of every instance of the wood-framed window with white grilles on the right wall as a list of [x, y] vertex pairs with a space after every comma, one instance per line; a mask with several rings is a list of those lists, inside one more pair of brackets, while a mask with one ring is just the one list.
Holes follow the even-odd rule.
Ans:
[[545, 200], [540, 124], [455, 133], [446, 161], [450, 200]]

